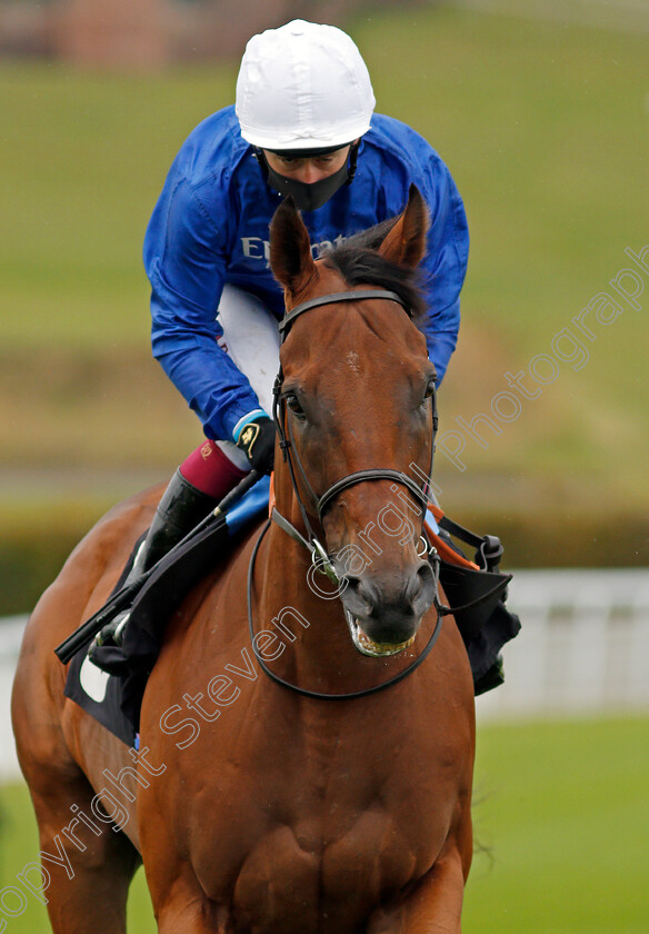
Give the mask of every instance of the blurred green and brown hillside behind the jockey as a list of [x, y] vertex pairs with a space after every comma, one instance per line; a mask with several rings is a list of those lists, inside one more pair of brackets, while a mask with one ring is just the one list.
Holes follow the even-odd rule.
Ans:
[[[647, 39], [443, 4], [369, 11], [349, 30], [378, 109], [432, 142], [467, 207], [443, 434], [489, 413], [506, 372], [616, 295], [625, 247], [649, 244]], [[150, 358], [141, 241], [176, 151], [231, 102], [236, 72], [0, 61], [0, 613], [29, 609], [102, 511], [200, 441]], [[620, 301], [613, 324], [592, 324], [586, 366], [562, 362], [486, 447], [467, 438], [465, 471], [438, 454], [447, 510], [500, 534], [510, 566], [647, 563], [646, 286], [640, 311]]]

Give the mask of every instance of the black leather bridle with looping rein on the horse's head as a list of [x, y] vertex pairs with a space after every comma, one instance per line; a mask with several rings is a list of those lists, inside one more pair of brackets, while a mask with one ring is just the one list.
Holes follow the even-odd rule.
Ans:
[[[279, 331], [280, 331], [280, 335], [281, 335], [281, 338], [282, 338], [282, 342], [286, 340], [286, 338], [288, 336], [288, 331], [289, 331], [290, 327], [292, 326], [293, 321], [296, 320], [296, 318], [298, 318], [300, 315], [303, 315], [306, 311], [309, 311], [312, 308], [318, 308], [322, 305], [333, 305], [333, 304], [343, 302], [343, 301], [362, 301], [362, 300], [367, 300], [367, 299], [386, 299], [388, 301], [396, 301], [406, 311], [406, 314], [409, 312], [408, 306], [406, 305], [403, 299], [397, 292], [393, 292], [393, 291], [387, 291], [387, 290], [383, 290], [383, 289], [357, 289], [357, 290], [345, 291], [345, 292], [333, 292], [331, 295], [324, 295], [324, 296], [320, 296], [318, 298], [309, 299], [307, 301], [301, 302], [300, 305], [294, 306], [284, 316], [282, 321], [279, 324]], [[439, 604], [439, 599], [438, 599], [438, 595], [437, 595], [437, 584], [438, 584], [438, 580], [439, 580], [439, 558], [437, 556], [437, 552], [435, 550], [435, 548], [431, 548], [429, 543], [427, 541], [427, 539], [423, 536], [421, 536], [421, 541], [423, 543], [423, 550], [418, 553], [418, 554], [420, 554], [421, 557], [423, 557], [423, 555], [428, 554], [430, 559], [431, 559], [431, 563], [433, 565], [433, 573], [435, 573], [435, 576], [436, 576], [435, 605], [436, 605], [436, 608], [438, 610], [436, 626], [433, 628], [433, 632], [432, 632], [425, 649], [422, 650], [422, 653], [419, 655], [419, 657], [416, 658], [415, 662], [409, 667], [405, 668], [400, 674], [398, 674], [393, 678], [390, 678], [387, 682], [383, 682], [383, 683], [381, 683], [381, 684], [379, 684], [375, 687], [367, 688], [365, 690], [351, 692], [351, 693], [346, 693], [346, 694], [322, 694], [320, 692], [308, 690], [307, 688], [301, 688], [298, 685], [291, 684], [290, 682], [287, 682], [283, 678], [280, 678], [278, 675], [274, 674], [274, 672], [272, 672], [267, 666], [263, 658], [261, 658], [260, 653], [258, 652], [257, 646], [254, 644], [254, 633], [253, 633], [253, 624], [252, 624], [252, 574], [253, 574], [253, 568], [254, 568], [254, 562], [256, 562], [256, 558], [257, 558], [257, 553], [259, 550], [259, 546], [261, 545], [261, 540], [262, 540], [263, 536], [266, 535], [266, 533], [268, 531], [268, 529], [270, 527], [270, 523], [274, 521], [283, 531], [287, 533], [287, 535], [290, 535], [291, 538], [293, 538], [296, 541], [299, 541], [302, 546], [304, 546], [310, 552], [312, 564], [313, 564], [313, 566], [316, 567], [317, 570], [327, 575], [327, 577], [329, 577], [329, 579], [332, 580], [333, 583], [340, 584], [340, 580], [339, 580], [338, 574], [336, 572], [336, 568], [333, 567], [333, 564], [332, 564], [329, 555], [327, 554], [326, 548], [316, 537], [316, 535], [313, 533], [313, 528], [311, 526], [311, 523], [309, 521], [308, 511], [307, 511], [307, 508], [306, 508], [306, 506], [302, 501], [302, 498], [300, 496], [300, 489], [299, 489], [298, 483], [297, 483], [296, 467], [300, 473], [300, 476], [301, 476], [304, 488], [309, 493], [309, 497], [311, 499], [311, 507], [314, 509], [320, 524], [322, 523], [322, 517], [324, 515], [326, 509], [331, 505], [333, 499], [340, 493], [342, 493], [342, 490], [348, 489], [349, 487], [351, 487], [356, 484], [366, 483], [367, 480], [392, 480], [393, 483], [397, 483], [397, 484], [400, 484], [401, 486], [407, 487], [408, 490], [415, 496], [415, 498], [419, 501], [419, 504], [422, 507], [422, 520], [423, 520], [423, 516], [426, 515], [428, 498], [427, 498], [425, 489], [421, 486], [419, 486], [411, 477], [409, 477], [407, 474], [403, 474], [401, 470], [395, 470], [395, 469], [388, 468], [388, 467], [370, 468], [370, 469], [366, 469], [366, 470], [355, 470], [353, 473], [348, 474], [347, 476], [341, 477], [339, 480], [336, 480], [335, 483], [332, 483], [331, 486], [329, 486], [329, 488], [324, 490], [324, 493], [322, 493], [318, 496], [314, 493], [314, 490], [312, 489], [311, 484], [309, 483], [309, 479], [307, 477], [307, 474], [304, 471], [304, 468], [302, 466], [302, 463], [301, 463], [300, 457], [299, 457], [298, 451], [297, 451], [297, 447], [296, 447], [296, 444], [294, 444], [294, 437], [293, 437], [293, 433], [292, 433], [292, 427], [291, 427], [291, 419], [286, 417], [287, 416], [286, 399], [282, 397], [282, 386], [283, 386], [283, 372], [282, 372], [281, 366], [280, 366], [280, 370], [279, 370], [279, 372], [277, 375], [277, 378], [274, 380], [273, 390], [272, 390], [272, 393], [273, 393], [272, 415], [273, 415], [273, 419], [274, 419], [274, 423], [276, 423], [276, 426], [277, 426], [277, 431], [278, 431], [278, 435], [279, 435], [280, 450], [282, 453], [282, 457], [283, 457], [284, 463], [289, 467], [289, 473], [290, 473], [291, 483], [292, 483], [292, 486], [293, 486], [293, 491], [294, 491], [294, 495], [296, 495], [296, 498], [297, 498], [297, 501], [298, 501], [298, 505], [299, 505], [299, 508], [300, 508], [300, 514], [301, 514], [302, 521], [304, 524], [304, 529], [307, 531], [308, 537], [304, 538], [304, 536], [292, 525], [292, 523], [290, 523], [284, 516], [282, 516], [277, 510], [276, 507], [272, 508], [270, 519], [268, 520], [268, 523], [266, 524], [266, 526], [261, 530], [260, 536], [259, 536], [259, 538], [256, 543], [256, 546], [253, 548], [253, 552], [252, 552], [252, 555], [251, 555], [251, 558], [250, 558], [250, 566], [249, 566], [249, 570], [248, 570], [248, 624], [249, 624], [249, 628], [250, 628], [250, 637], [251, 637], [251, 642], [252, 642], [252, 649], [254, 652], [257, 660], [259, 662], [262, 670], [270, 678], [272, 678], [272, 680], [277, 682], [278, 684], [282, 685], [283, 687], [288, 687], [291, 690], [297, 692], [298, 694], [300, 694], [302, 696], [312, 697], [312, 698], [317, 698], [317, 699], [339, 700], [339, 699], [351, 699], [351, 698], [355, 698], [355, 697], [362, 697], [362, 696], [367, 696], [369, 694], [376, 694], [378, 690], [382, 690], [386, 687], [390, 687], [391, 685], [397, 684], [397, 682], [402, 680], [407, 675], [409, 675], [411, 672], [413, 672], [423, 662], [423, 659], [427, 657], [427, 655], [431, 650], [432, 646], [437, 642], [437, 638], [438, 638], [440, 629], [441, 629], [441, 622], [442, 622], [443, 614], [442, 614], [442, 612], [440, 612], [442, 608]], [[431, 473], [432, 473], [432, 458], [433, 458], [433, 454], [435, 454], [435, 438], [436, 438], [437, 428], [438, 428], [438, 416], [437, 416], [435, 388], [433, 388], [433, 391], [432, 391], [432, 395], [431, 395], [431, 405], [432, 405], [432, 439], [431, 439], [431, 450], [430, 450], [430, 467], [429, 467], [429, 471], [428, 471], [427, 476], [430, 476]], [[287, 425], [288, 437], [287, 437], [287, 433], [284, 431], [284, 420], [286, 420], [286, 425]]]

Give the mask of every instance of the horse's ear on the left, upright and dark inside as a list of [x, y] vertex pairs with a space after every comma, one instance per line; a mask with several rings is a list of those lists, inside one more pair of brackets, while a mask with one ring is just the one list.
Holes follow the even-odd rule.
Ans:
[[309, 234], [290, 196], [270, 222], [270, 268], [292, 295], [307, 285], [316, 270]]

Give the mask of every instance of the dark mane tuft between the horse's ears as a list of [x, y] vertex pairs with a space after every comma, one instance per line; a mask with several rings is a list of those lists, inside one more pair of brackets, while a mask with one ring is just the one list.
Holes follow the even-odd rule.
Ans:
[[338, 270], [350, 286], [379, 286], [397, 292], [409, 309], [410, 317], [419, 321], [427, 308], [419, 271], [390, 262], [377, 252], [396, 222], [395, 217], [361, 230], [339, 246], [326, 250], [321, 258], [324, 266]]

